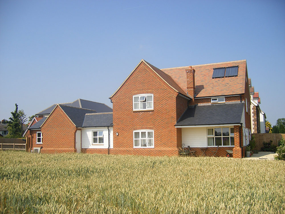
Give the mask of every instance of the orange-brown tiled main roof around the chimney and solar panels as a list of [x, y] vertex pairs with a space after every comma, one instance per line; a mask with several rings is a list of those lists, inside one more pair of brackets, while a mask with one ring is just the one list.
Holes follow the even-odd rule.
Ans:
[[[239, 66], [238, 76], [212, 78], [213, 68]], [[185, 69], [189, 66], [178, 68], [160, 69], [187, 92], [187, 81]], [[220, 62], [203, 65], [192, 65], [195, 69], [195, 97], [232, 95], [245, 93], [246, 60]]]

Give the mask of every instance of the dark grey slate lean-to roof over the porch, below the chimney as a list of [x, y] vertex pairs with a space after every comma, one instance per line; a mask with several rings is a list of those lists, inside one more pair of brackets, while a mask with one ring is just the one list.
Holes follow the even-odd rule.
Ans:
[[236, 102], [190, 107], [175, 126], [238, 124], [241, 123], [244, 105], [244, 102]]

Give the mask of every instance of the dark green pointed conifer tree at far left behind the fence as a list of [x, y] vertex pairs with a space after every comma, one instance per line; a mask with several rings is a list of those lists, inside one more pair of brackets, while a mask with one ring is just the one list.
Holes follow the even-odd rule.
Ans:
[[7, 122], [7, 130], [8, 135], [7, 138], [20, 138], [22, 136], [22, 130], [21, 130], [21, 120], [20, 120], [20, 114], [18, 112], [18, 105], [15, 104], [16, 109], [14, 112], [11, 112], [12, 117], [9, 118], [9, 121]]

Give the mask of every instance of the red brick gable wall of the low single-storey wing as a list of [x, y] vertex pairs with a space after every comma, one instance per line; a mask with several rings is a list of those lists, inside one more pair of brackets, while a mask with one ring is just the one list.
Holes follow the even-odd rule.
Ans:
[[41, 128], [42, 144], [35, 144], [36, 132], [32, 134], [33, 147], [42, 146], [42, 153], [76, 152], [76, 130], [71, 120], [57, 106]]

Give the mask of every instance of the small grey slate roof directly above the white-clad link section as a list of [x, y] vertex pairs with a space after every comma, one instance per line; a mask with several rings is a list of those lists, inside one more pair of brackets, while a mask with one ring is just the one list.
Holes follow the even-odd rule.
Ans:
[[82, 127], [113, 126], [113, 112], [86, 114]]

